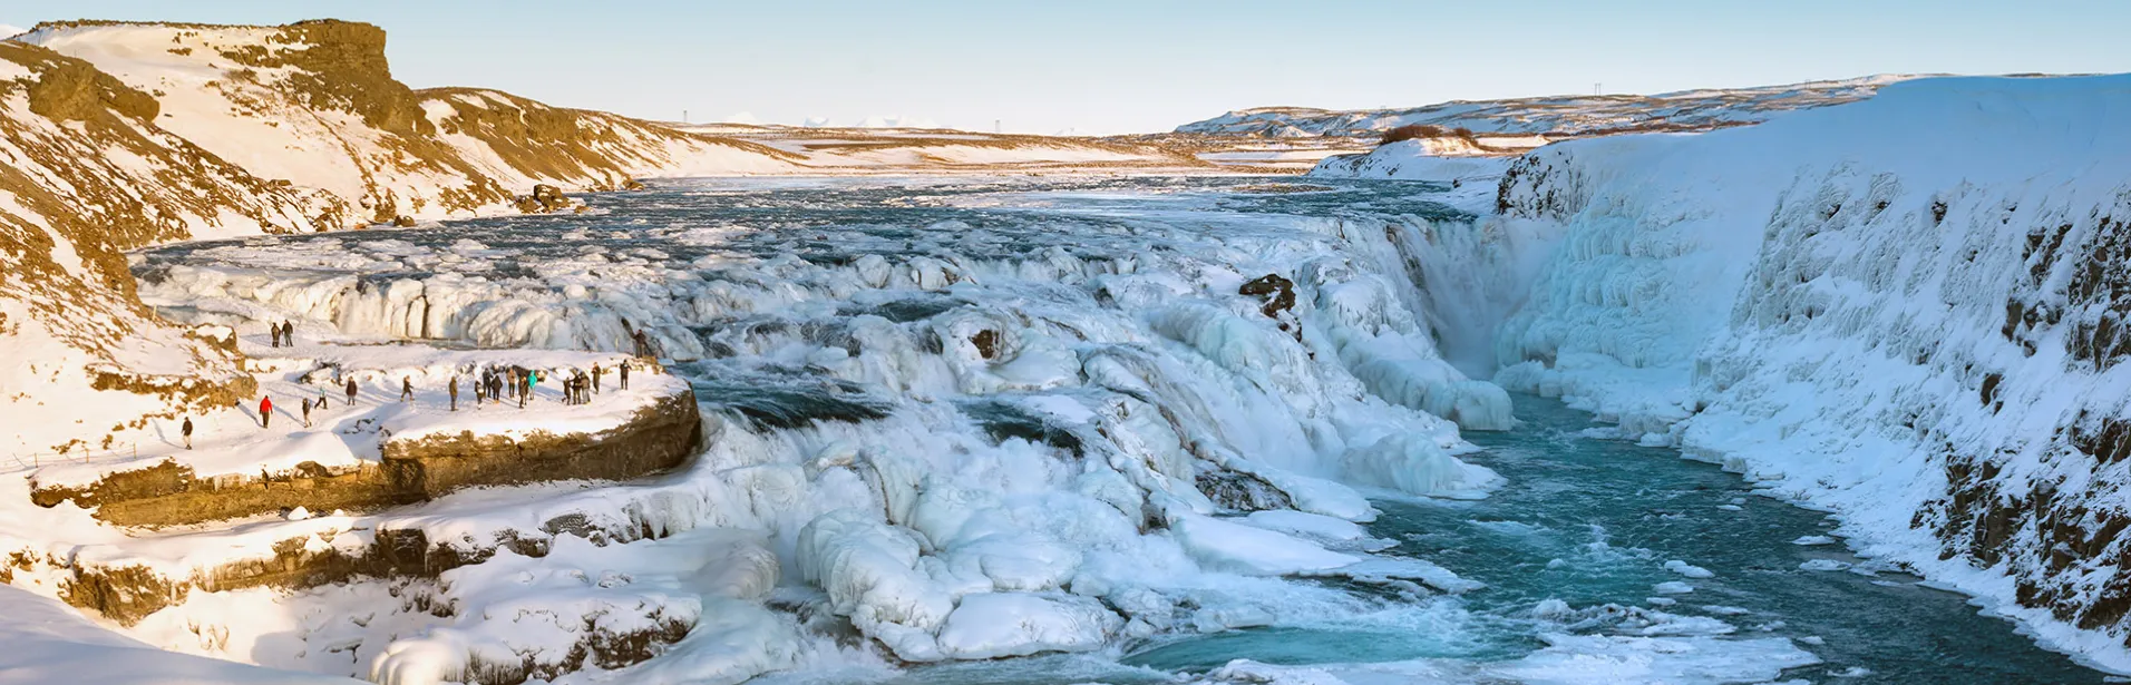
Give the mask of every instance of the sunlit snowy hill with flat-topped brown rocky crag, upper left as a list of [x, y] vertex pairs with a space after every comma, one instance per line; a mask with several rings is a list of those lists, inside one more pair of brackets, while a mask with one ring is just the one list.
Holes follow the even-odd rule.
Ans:
[[392, 79], [384, 30], [43, 23], [13, 40], [81, 57], [162, 104], [156, 123], [328, 204], [328, 228], [505, 213], [535, 183], [612, 189], [646, 172], [761, 172], [786, 155], [605, 113]]

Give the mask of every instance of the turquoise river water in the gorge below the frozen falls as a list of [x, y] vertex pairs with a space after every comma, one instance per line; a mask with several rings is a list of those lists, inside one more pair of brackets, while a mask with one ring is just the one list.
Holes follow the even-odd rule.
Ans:
[[[1202, 670], [1234, 655], [1289, 664], [1362, 659], [1507, 659], [1541, 647], [1522, 615], [1541, 600], [1705, 615], [1739, 636], [1784, 636], [1822, 664], [1788, 670], [1813, 683], [2103, 683], [2044, 651], [1965, 596], [1871, 570], [1841, 545], [1794, 545], [1833, 528], [1826, 515], [1752, 494], [1737, 474], [1677, 451], [1583, 438], [1590, 415], [1519, 396], [1515, 432], [1468, 434], [1475, 462], [1509, 477], [1479, 502], [1379, 502], [1379, 536], [1487, 583], [1462, 608], [1464, 632], [1413, 636], [1264, 630], [1166, 645], [1127, 662]], [[1664, 562], [1713, 572], [1686, 579]], [[1805, 570], [1805, 564], [1841, 570]], [[1690, 581], [1692, 594], [1652, 587]], [[1652, 598], [1677, 604], [1654, 606]]]

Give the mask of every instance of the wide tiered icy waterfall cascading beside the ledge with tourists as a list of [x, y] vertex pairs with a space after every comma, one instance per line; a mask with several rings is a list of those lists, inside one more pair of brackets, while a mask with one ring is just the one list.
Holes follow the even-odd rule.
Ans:
[[[1509, 398], [1441, 360], [1415, 311], [1428, 294], [1402, 251], [1426, 221], [1027, 211], [1102, 198], [1102, 183], [942, 187], [925, 198], [940, 217], [916, 225], [774, 219], [910, 194], [818, 185], [678, 185], [616, 198], [605, 217], [147, 253], [143, 298], [202, 325], [294, 319], [343, 345], [644, 345], [680, 362], [718, 430], [652, 483], [266, 528], [422, 530], [482, 562], [384, 585], [450, 617], [398, 600], [360, 625], [332, 619], [388, 589], [354, 583], [207, 594], [136, 634], [243, 655], [290, 632], [313, 649], [266, 666], [386, 683], [571, 679], [578, 659], [584, 676], [739, 681], [837, 649], [801, 621], [844, 623], [901, 662], [991, 659], [1281, 623], [1291, 608], [1251, 596], [1294, 587], [1283, 577], [1479, 587], [1383, 557], [1394, 542], [1353, 525], [1374, 517], [1364, 491], [1479, 498], [1500, 483], [1458, 457], [1473, 449], [1458, 428], [1509, 428]], [[791, 206], [705, 219], [763, 202]], [[644, 221], [669, 206], [688, 211]], [[1264, 274], [1296, 298], [1240, 294]], [[249, 602], [300, 606], [303, 625], [217, 619]], [[215, 640], [183, 638], [202, 623]], [[671, 642], [654, 659], [603, 664], [612, 636], [673, 630], [686, 638], [654, 640]]]

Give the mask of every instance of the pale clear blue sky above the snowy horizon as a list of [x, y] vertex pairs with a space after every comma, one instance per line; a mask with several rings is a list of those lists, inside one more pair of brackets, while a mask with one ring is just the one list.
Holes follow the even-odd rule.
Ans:
[[901, 115], [1157, 132], [1232, 108], [1666, 91], [1873, 72], [2131, 72], [2131, 2], [149, 2], [45, 19], [384, 26], [416, 87], [695, 121]]

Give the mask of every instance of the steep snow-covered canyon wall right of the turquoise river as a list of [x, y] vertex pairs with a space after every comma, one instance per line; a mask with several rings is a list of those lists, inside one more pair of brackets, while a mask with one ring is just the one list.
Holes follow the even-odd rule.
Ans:
[[[1496, 381], [1835, 508], [2127, 670], [2131, 77], [1926, 79], [1515, 162]], [[1522, 243], [1519, 243], [1522, 240]]]

